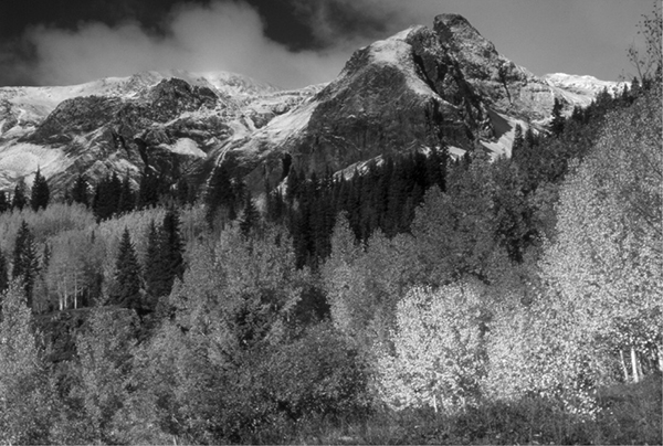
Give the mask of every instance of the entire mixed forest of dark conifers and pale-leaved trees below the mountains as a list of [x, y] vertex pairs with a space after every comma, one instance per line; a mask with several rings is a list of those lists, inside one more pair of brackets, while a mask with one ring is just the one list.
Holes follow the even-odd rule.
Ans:
[[0, 443], [660, 444], [661, 103], [260, 197], [38, 172], [0, 193]]

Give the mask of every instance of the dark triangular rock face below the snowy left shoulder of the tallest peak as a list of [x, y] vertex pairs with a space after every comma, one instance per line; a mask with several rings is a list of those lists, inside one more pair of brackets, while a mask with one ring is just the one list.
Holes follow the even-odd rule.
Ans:
[[442, 137], [470, 146], [465, 110], [433, 88], [404, 41], [356, 52], [341, 77], [315, 98], [318, 105], [294, 150], [295, 163], [318, 172], [338, 170], [378, 155], [439, 145]]

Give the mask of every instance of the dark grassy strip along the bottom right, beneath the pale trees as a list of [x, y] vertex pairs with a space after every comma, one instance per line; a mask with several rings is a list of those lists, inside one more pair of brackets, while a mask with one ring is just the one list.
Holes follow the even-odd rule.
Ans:
[[560, 412], [545, 400], [527, 399], [491, 402], [454, 416], [418, 410], [385, 411], [364, 421], [309, 421], [301, 423], [285, 443], [660, 445], [661, 381], [661, 374], [655, 374], [638, 384], [602, 389], [599, 415], [593, 420]]

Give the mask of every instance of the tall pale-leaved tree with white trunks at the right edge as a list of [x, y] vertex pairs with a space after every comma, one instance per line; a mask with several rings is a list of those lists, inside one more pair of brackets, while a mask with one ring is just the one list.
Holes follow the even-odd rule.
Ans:
[[592, 151], [561, 188], [557, 240], [541, 263], [548, 300], [575, 326], [565, 360], [597, 367], [625, 351], [633, 381], [643, 363], [663, 370], [662, 135], [660, 85], [606, 117]]

